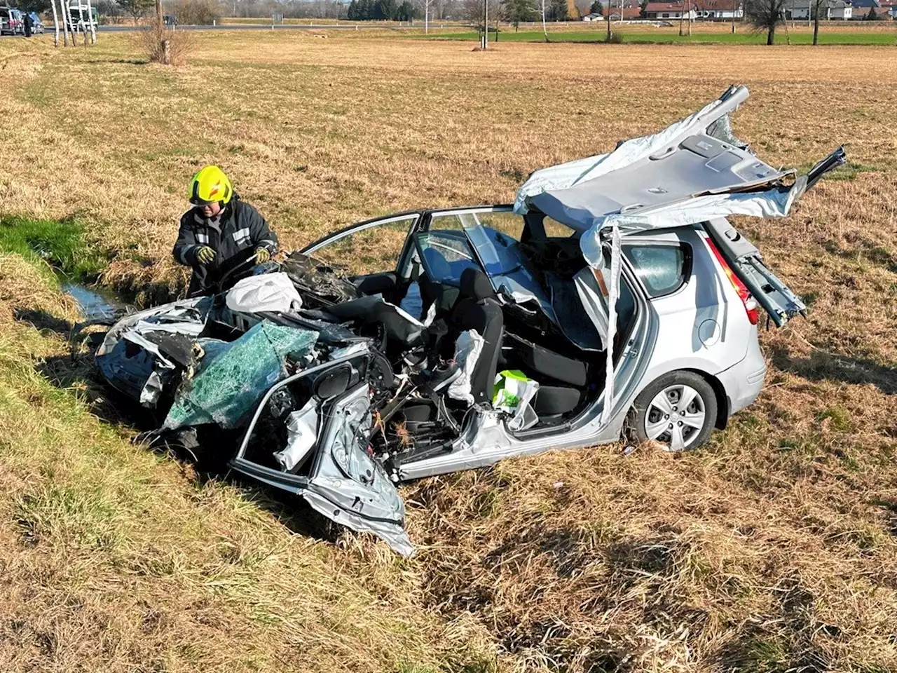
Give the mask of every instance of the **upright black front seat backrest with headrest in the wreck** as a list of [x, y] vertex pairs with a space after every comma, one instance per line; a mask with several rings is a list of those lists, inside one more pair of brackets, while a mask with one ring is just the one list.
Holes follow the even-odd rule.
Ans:
[[475, 329], [484, 342], [470, 377], [471, 394], [475, 403], [491, 402], [504, 316], [489, 277], [475, 268], [466, 268], [461, 274], [460, 293], [448, 314], [448, 338], [443, 343], [454, 348], [457, 337], [468, 329]]

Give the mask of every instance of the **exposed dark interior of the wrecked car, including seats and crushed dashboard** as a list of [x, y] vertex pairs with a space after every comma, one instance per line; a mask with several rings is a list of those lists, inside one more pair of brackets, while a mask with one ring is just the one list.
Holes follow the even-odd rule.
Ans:
[[[315, 329], [323, 343], [374, 340], [377, 362], [345, 367], [352, 377], [344, 383], [357, 385], [371, 367], [381, 372], [380, 380], [389, 380], [373, 402], [384, 432], [371, 441], [378, 453], [400, 457], [397, 462], [447, 450], [471, 409], [492, 403], [501, 371], [519, 371], [538, 383], [529, 402], [535, 422], [518, 430], [519, 438], [563, 432], [600, 395], [605, 348], [574, 283], [578, 275], [594, 279], [579, 251], [578, 235], [548, 235], [543, 218], [527, 214], [519, 240], [479, 223], [473, 233], [424, 223], [410, 237], [398, 273], [348, 276], [335, 265], [294, 254], [283, 270], [300, 289], [303, 308], [296, 314], [259, 317]], [[482, 241], [486, 252], [475, 251], [471, 240]], [[501, 255], [488, 258], [490, 246], [501, 248]], [[624, 278], [615, 354], [629, 338], [636, 310]], [[468, 330], [483, 337], [482, 351], [468, 372], [474, 405], [446, 394], [453, 379], [440, 378], [452, 372], [458, 338]], [[276, 467], [263, 447], [283, 446], [282, 419], [289, 408], [300, 408], [313, 396], [328, 397], [327, 387], [318, 390], [319, 385], [309, 380], [270, 400], [266, 417], [271, 422], [259, 423], [253, 435], [277, 436], [251, 441], [249, 460]], [[308, 468], [291, 471], [301, 475]]]

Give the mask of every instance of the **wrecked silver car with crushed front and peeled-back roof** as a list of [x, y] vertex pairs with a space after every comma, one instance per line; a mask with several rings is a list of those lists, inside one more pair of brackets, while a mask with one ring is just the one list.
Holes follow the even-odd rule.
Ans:
[[762, 162], [729, 127], [746, 98], [536, 171], [514, 205], [358, 223], [127, 316], [100, 372], [158, 436], [403, 555], [404, 480], [623, 435], [700, 446], [760, 393], [760, 308], [805, 310], [727, 216], [784, 217], [845, 161]]

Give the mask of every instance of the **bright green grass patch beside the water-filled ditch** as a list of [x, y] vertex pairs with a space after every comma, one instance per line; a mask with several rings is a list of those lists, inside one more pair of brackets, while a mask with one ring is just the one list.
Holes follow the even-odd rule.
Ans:
[[108, 255], [87, 243], [83, 226], [74, 220], [0, 217], [0, 250], [47, 269], [48, 279], [63, 275], [92, 282], [108, 261]]

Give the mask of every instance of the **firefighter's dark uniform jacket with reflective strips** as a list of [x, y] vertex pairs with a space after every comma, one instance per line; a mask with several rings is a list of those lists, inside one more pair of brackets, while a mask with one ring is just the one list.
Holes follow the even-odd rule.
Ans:
[[[196, 260], [196, 253], [204, 246], [215, 251], [215, 258], [205, 266]], [[230, 270], [239, 258], [248, 258], [257, 248], [266, 248], [274, 255], [277, 236], [265, 218], [236, 194], [216, 217], [206, 219], [196, 208], [188, 210], [180, 218], [178, 242], [173, 251], [179, 264], [193, 267], [187, 296], [210, 292], [224, 271]]]

